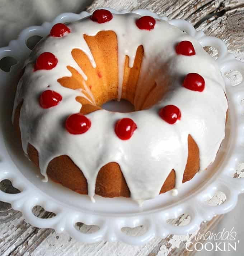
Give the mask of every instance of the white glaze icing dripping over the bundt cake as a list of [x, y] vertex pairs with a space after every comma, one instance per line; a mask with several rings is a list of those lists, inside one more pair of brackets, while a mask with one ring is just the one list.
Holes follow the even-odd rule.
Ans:
[[[83, 171], [92, 198], [97, 174], [109, 162], [120, 165], [134, 200], [143, 201], [157, 196], [172, 169], [176, 173], [175, 188], [178, 188], [187, 163], [188, 134], [198, 145], [200, 169], [207, 168], [215, 160], [225, 137], [227, 100], [225, 84], [216, 61], [193, 37], [166, 21], [156, 20], [155, 28], [151, 31], [137, 28], [135, 20], [139, 17], [137, 14], [113, 14], [111, 21], [102, 24], [89, 18], [68, 24], [70, 34], [63, 38], [47, 37], [35, 47], [25, 63], [25, 72], [18, 84], [13, 118], [15, 109], [24, 99], [20, 111], [24, 152], [27, 154], [28, 143], [38, 150], [39, 166], [46, 178], [48, 163], [57, 156], [68, 155]], [[82, 35], [94, 36], [102, 30], [111, 30], [117, 35], [118, 100], [121, 97], [125, 55], [129, 56], [129, 66], [132, 67], [140, 45], [144, 47], [144, 58], [135, 107], [140, 101], [140, 91], [145, 89], [151, 78], [155, 79], [157, 86], [163, 86], [165, 78], [170, 78], [172, 84], [164, 98], [150, 109], [132, 113], [95, 111], [88, 114], [92, 122], [88, 132], [72, 135], [64, 128], [64, 121], [70, 114], [80, 111], [81, 104], [75, 100], [76, 96], [85, 95], [82, 90], [62, 87], [57, 79], [71, 76], [67, 65], [87, 79], [72, 58], [71, 51], [74, 48], [83, 50], [92, 66], [96, 67]], [[192, 42], [196, 55], [189, 57], [175, 53], [175, 45], [183, 40]], [[42, 52], [52, 52], [58, 64], [52, 70], [33, 72], [34, 63]], [[205, 79], [203, 92], [182, 87], [182, 78], [194, 72]], [[90, 93], [88, 87], [85, 88]], [[47, 89], [60, 93], [63, 99], [53, 108], [42, 109], [38, 99]], [[158, 110], [168, 104], [178, 106], [182, 113], [181, 120], [174, 125], [164, 122], [158, 115]], [[114, 133], [114, 124], [124, 117], [133, 119], [138, 127], [127, 141], [120, 140]]]

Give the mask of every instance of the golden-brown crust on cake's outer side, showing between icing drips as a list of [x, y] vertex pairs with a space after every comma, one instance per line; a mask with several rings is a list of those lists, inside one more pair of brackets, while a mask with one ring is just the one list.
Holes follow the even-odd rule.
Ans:
[[[22, 104], [15, 111], [14, 126], [20, 138], [19, 116]], [[39, 168], [38, 151], [31, 144], [28, 145], [29, 159]], [[191, 180], [199, 170], [199, 150], [192, 136], [188, 136], [188, 159], [184, 170], [182, 183]], [[61, 184], [77, 193], [88, 195], [86, 178], [82, 172], [70, 159], [63, 155], [55, 157], [47, 167], [47, 175], [53, 182]], [[166, 178], [161, 193], [165, 193], [175, 187], [175, 171], [172, 170]], [[104, 165], [98, 175], [95, 186], [95, 194], [103, 197], [130, 197], [130, 189], [121, 172], [119, 165], [115, 162]]]

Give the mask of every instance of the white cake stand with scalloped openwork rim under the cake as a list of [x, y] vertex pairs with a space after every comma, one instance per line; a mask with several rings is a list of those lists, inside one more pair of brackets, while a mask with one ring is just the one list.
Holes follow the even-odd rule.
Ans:
[[[127, 13], [126, 10], [122, 12], [109, 10], [113, 13]], [[223, 76], [227, 71], [238, 70], [244, 77], [244, 64], [235, 60], [235, 56], [227, 52], [224, 42], [220, 39], [207, 37], [202, 31], [196, 31], [185, 20], [160, 18], [147, 10], [134, 12], [164, 19], [195, 37], [202, 46], [215, 47], [219, 54], [216, 61]], [[163, 238], [169, 234], [191, 233], [202, 221], [210, 220], [216, 214], [224, 214], [232, 210], [237, 203], [238, 195], [244, 191], [244, 179], [233, 178], [237, 164], [244, 162], [244, 118], [240, 105], [241, 99], [244, 99], [244, 82], [234, 87], [226, 78], [226, 94], [229, 101], [226, 138], [215, 162], [185, 183], [179, 189], [178, 196], [172, 196], [170, 192], [167, 192], [146, 201], [141, 208], [130, 198], [122, 197], [95, 196], [96, 202], [92, 203], [88, 196], [79, 195], [51, 181], [48, 183], [41, 181], [42, 177], [38, 176], [37, 168], [24, 156], [11, 123], [20, 69], [30, 53], [26, 45], [27, 39], [34, 35], [45, 37], [53, 24], [78, 20], [87, 15], [90, 13], [61, 14], [51, 23], [25, 29], [16, 41], [11, 41], [9, 46], [0, 48], [0, 59], [12, 56], [18, 61], [11, 67], [9, 73], [0, 69], [0, 181], [9, 179], [13, 186], [21, 191], [18, 194], [0, 191], [0, 200], [10, 203], [13, 209], [21, 211], [24, 218], [36, 227], [67, 232], [71, 237], [88, 243], [118, 240], [141, 245], [155, 236]], [[224, 192], [226, 201], [218, 206], [207, 205], [205, 201], [210, 199], [216, 191]], [[36, 205], [54, 212], [56, 216], [51, 219], [37, 218], [32, 213], [32, 208]], [[183, 213], [191, 216], [189, 224], [177, 227], [167, 223], [167, 219], [177, 218]], [[97, 225], [100, 229], [92, 234], [84, 234], [75, 229], [77, 222]], [[138, 225], [144, 225], [147, 228], [142, 236], [128, 236], [121, 231], [123, 227], [132, 228]]]

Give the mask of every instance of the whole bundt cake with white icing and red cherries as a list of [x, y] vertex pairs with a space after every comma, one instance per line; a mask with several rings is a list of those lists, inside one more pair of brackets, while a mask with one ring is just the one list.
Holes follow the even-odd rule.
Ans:
[[[135, 111], [102, 108], [114, 99]], [[143, 201], [215, 160], [227, 108], [219, 67], [196, 39], [164, 20], [100, 9], [55, 24], [34, 48], [13, 123], [46, 181]]]

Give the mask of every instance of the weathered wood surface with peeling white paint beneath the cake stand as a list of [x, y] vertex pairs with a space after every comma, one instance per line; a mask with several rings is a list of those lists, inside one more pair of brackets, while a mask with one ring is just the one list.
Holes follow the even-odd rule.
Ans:
[[[244, 0], [213, 1], [213, 0], [95, 0], [88, 11], [97, 7], [109, 6], [122, 9], [149, 9], [159, 15], [171, 19], [189, 20], [197, 29], [207, 35], [217, 36], [224, 40], [228, 49], [235, 53], [238, 59], [244, 60]], [[212, 52], [215, 54], [215, 51]], [[233, 75], [232, 79], [239, 79]], [[239, 174], [243, 172], [239, 171]], [[236, 174], [236, 175], [239, 175]], [[11, 189], [8, 182], [1, 183], [3, 190]], [[13, 190], [11, 190], [13, 191]], [[14, 191], [13, 191], [14, 192]], [[212, 204], [220, 204], [222, 195], [212, 199]], [[35, 214], [41, 218], [50, 218], [52, 214], [36, 207]], [[208, 223], [203, 223], [201, 233], [211, 230], [220, 217], [215, 217]], [[172, 221], [183, 225], [189, 221], [183, 215]], [[184, 251], [184, 236], [171, 235], [166, 239], [155, 238], [145, 246], [129, 246], [121, 242], [98, 242], [85, 244], [75, 241], [66, 234], [56, 234], [51, 229], [38, 229], [27, 224], [20, 212], [11, 209], [9, 204], [0, 202], [0, 255], [182, 255]], [[94, 227], [80, 225], [82, 232], [92, 232]], [[141, 234], [144, 228], [127, 229], [130, 234]]]

